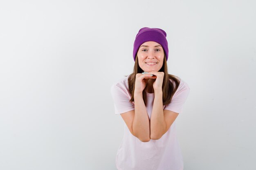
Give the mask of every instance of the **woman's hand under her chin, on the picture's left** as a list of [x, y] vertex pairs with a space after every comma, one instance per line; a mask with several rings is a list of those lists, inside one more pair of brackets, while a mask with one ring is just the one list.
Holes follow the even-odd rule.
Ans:
[[146, 87], [148, 79], [156, 79], [156, 78], [157, 77], [155, 75], [151, 76], [148, 73], [145, 73], [145, 74], [137, 73], [136, 74], [136, 79], [135, 79], [135, 90], [134, 90], [134, 93], [142, 93], [142, 91]]

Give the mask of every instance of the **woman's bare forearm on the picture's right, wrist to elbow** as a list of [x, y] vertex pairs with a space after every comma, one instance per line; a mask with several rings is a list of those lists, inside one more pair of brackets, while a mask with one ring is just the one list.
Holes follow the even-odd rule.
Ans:
[[155, 91], [155, 98], [150, 117], [150, 139], [160, 139], [166, 129], [162, 97], [162, 89]]

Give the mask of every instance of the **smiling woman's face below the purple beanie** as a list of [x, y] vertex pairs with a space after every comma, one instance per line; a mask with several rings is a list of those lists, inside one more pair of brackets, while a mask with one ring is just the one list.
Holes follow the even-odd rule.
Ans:
[[164, 49], [157, 42], [147, 41], [139, 47], [137, 57], [143, 71], [159, 71], [164, 63]]

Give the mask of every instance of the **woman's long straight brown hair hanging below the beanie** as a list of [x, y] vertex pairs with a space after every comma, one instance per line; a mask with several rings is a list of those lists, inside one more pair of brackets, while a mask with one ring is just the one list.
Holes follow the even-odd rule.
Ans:
[[[133, 73], [131, 73], [128, 77], [128, 86], [129, 86], [129, 92], [131, 94], [131, 99], [130, 99], [131, 103], [134, 102], [134, 87], [135, 87], [136, 74], [142, 73], [142, 72], [143, 70], [139, 67], [138, 56], [136, 55]], [[168, 74], [165, 54], [164, 54], [164, 63], [162, 68], [159, 70], [159, 72], [164, 72], [164, 79], [163, 79], [163, 86], [162, 86], [163, 105], [167, 105], [171, 103], [171, 99], [173, 98], [174, 93], [176, 92], [178, 86], [180, 85], [180, 80], [176, 78], [177, 76]], [[128, 75], [126, 75], [126, 77], [127, 76]], [[170, 79], [172, 79], [175, 82], [175, 85], [176, 85], [175, 88], [173, 86], [173, 83], [170, 81]], [[145, 106], [147, 106], [146, 87], [144, 88], [142, 95], [143, 95], [144, 104]]]

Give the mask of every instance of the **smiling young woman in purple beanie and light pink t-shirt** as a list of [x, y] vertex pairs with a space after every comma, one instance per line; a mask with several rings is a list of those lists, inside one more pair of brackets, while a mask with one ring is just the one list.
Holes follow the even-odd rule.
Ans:
[[133, 73], [111, 87], [115, 114], [124, 119], [124, 137], [117, 150], [118, 170], [183, 170], [175, 132], [190, 88], [168, 74], [166, 32], [144, 27], [133, 46]]

